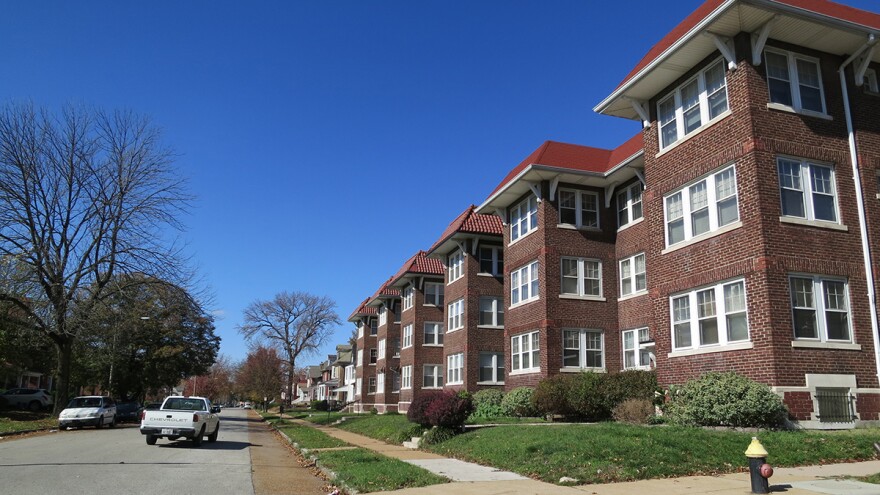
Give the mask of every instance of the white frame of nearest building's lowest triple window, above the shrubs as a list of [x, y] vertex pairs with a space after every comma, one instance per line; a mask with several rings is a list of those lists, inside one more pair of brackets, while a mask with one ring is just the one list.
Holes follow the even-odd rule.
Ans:
[[[727, 287], [740, 286], [739, 290], [742, 291], [742, 308], [728, 308], [727, 301], [725, 298], [725, 290]], [[702, 296], [702, 294], [706, 293], [706, 296]], [[712, 306], [714, 310], [714, 315], [710, 316], [701, 316], [701, 306], [700, 297], [711, 297], [712, 298]], [[704, 302], [705, 307], [705, 299], [702, 300]], [[672, 351], [687, 351], [687, 350], [697, 350], [697, 349], [719, 349], [723, 350], [725, 347], [731, 345], [745, 344], [751, 341], [751, 329], [749, 328], [749, 313], [748, 313], [748, 294], [746, 292], [746, 283], [744, 279], [736, 279], [736, 280], [728, 280], [725, 282], [721, 282], [719, 284], [700, 287], [697, 289], [690, 290], [688, 292], [674, 294], [669, 297], [669, 315], [670, 315], [670, 328], [672, 331]], [[728, 329], [728, 316], [731, 315], [741, 315], [745, 318], [746, 325], [746, 337], [744, 339], [739, 340], [731, 340], [729, 338], [729, 329]], [[701, 343], [701, 335], [700, 335], [700, 322], [706, 321], [711, 322], [714, 320], [716, 338], [718, 342], [713, 343]], [[685, 325], [687, 325], [687, 330], [690, 338], [689, 345], [683, 345], [679, 342], [677, 338], [678, 328], [677, 326], [681, 326], [682, 330], [685, 329]], [[682, 334], [684, 335], [684, 334]]]

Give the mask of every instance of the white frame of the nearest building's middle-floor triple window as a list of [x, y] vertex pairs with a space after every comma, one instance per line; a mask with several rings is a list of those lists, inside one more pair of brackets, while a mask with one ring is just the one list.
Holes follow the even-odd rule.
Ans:
[[[721, 181], [725, 178], [733, 181], [733, 187], [732, 189], [728, 188], [724, 191], [719, 191], [719, 186], [723, 184]], [[686, 245], [694, 240], [711, 237], [723, 228], [731, 228], [730, 226], [739, 225], [739, 186], [736, 183], [736, 178], [736, 165], [731, 164], [715, 170], [712, 173], [677, 189], [671, 194], [664, 196], [663, 229], [664, 237], [666, 239], [666, 247]], [[704, 189], [702, 194], [697, 192], [697, 189], [700, 188], [701, 185]], [[722, 194], [724, 194], [723, 197], [721, 197]], [[694, 201], [698, 200], [702, 195], [705, 195], [705, 204], [694, 205]], [[678, 196], [678, 202], [681, 204], [678, 208], [672, 208], [671, 206], [676, 203], [676, 201], [674, 201], [676, 196]], [[721, 207], [729, 204], [731, 200], [736, 204], [736, 218], [727, 219], [726, 223], [722, 224], [720, 214]], [[704, 214], [708, 215], [708, 229], [705, 232], [695, 234], [694, 224], [696, 221], [706, 218], [703, 216]], [[677, 216], [673, 218], [672, 215]], [[671, 236], [672, 224], [677, 224], [679, 222], [681, 222], [682, 238], [673, 242]]]

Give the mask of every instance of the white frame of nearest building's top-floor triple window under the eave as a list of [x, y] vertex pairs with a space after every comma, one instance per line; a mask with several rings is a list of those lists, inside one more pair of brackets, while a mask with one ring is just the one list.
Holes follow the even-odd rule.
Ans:
[[[723, 80], [724, 84], [717, 88], [713, 93], [709, 94], [709, 89], [706, 87], [706, 74], [716, 67], [720, 66], [721, 70], [724, 74]], [[685, 102], [683, 101], [683, 92], [682, 90], [686, 87], [691, 86], [693, 83], [697, 85], [697, 102], [692, 104], [688, 108], [684, 108]], [[725, 93], [725, 108], [724, 110], [718, 112], [714, 117], [711, 116], [709, 99], [720, 91], [724, 91]], [[673, 118], [667, 121], [663, 121], [663, 115], [661, 113], [662, 108], [665, 104], [671, 102], [674, 108]], [[690, 110], [696, 110], [700, 115], [700, 125], [688, 131], [685, 127], [685, 113]], [[668, 95], [664, 96], [660, 100], [657, 101], [657, 137], [658, 144], [660, 145], [660, 150], [663, 151], [668, 149], [675, 144], [683, 141], [688, 136], [692, 134], [696, 134], [700, 131], [700, 129], [705, 128], [708, 125], [711, 125], [718, 119], [724, 118], [726, 115], [730, 113], [730, 94], [727, 91], [727, 67], [723, 58], [716, 59], [709, 64], [706, 65], [706, 68], [701, 70], [698, 74], [688, 79], [680, 86], [672, 90]], [[670, 126], [674, 126], [675, 135], [674, 139], [671, 142], [664, 142], [663, 132], [667, 129], [671, 129]]]

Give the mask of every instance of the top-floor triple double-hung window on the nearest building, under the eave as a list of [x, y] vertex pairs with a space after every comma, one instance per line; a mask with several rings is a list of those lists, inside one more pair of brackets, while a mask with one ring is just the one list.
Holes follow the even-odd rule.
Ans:
[[661, 150], [727, 111], [725, 76], [724, 60], [718, 60], [657, 103]]

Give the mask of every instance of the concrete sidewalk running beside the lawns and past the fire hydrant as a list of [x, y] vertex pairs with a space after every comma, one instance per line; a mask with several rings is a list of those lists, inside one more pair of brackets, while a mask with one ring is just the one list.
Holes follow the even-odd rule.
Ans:
[[[402, 445], [390, 445], [331, 426], [319, 426], [300, 420], [294, 421], [321, 430], [327, 435], [352, 445], [400, 459], [453, 480], [452, 483], [442, 485], [375, 492], [375, 495], [627, 495], [632, 493], [743, 495], [751, 493], [748, 473], [686, 476], [603, 485], [558, 486], [525, 478], [508, 471], [449, 459], [430, 452], [411, 450]], [[837, 479], [844, 476], [868, 476], [877, 473], [880, 473], [880, 461], [777, 468], [773, 477], [770, 478], [770, 490], [786, 495], [880, 495], [880, 485]]]

